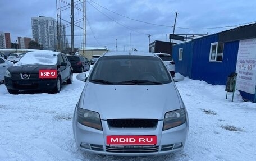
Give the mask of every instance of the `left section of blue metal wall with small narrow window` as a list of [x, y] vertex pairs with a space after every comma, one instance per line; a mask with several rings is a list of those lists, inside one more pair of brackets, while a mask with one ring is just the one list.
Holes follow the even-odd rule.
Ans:
[[[182, 60], [179, 61], [179, 48], [183, 48]], [[175, 61], [176, 72], [191, 77], [193, 43], [185, 42], [173, 45], [172, 58]]]

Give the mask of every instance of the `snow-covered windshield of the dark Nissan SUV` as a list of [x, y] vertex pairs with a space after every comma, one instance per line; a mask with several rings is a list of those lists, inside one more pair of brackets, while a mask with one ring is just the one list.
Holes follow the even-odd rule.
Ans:
[[44, 52], [29, 52], [23, 56], [15, 66], [20, 65], [56, 65], [58, 62], [57, 54]]

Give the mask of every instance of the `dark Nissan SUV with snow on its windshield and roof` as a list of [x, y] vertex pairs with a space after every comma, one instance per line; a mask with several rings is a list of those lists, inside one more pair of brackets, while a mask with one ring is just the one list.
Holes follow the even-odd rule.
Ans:
[[15, 65], [8, 67], [4, 84], [11, 94], [19, 90], [52, 90], [58, 93], [61, 84], [72, 83], [72, 67], [65, 54], [40, 50], [28, 52]]

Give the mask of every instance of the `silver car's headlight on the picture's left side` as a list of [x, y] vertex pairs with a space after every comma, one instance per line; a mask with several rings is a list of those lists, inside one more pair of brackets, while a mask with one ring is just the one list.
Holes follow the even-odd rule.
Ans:
[[102, 124], [98, 112], [89, 111], [83, 108], [77, 109], [77, 121], [82, 125], [102, 130]]

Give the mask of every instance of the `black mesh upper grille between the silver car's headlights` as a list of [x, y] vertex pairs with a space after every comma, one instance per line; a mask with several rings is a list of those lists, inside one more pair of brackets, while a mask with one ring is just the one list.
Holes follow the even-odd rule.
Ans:
[[152, 128], [157, 126], [158, 119], [108, 119], [109, 127], [116, 128]]

